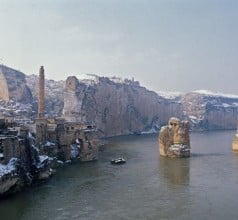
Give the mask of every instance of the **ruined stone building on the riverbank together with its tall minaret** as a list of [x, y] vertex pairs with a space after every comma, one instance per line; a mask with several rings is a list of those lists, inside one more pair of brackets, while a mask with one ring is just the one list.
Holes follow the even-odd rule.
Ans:
[[[39, 73], [38, 118], [36, 119], [36, 142], [42, 153], [67, 161], [79, 158], [81, 161], [97, 159], [97, 131], [92, 126], [65, 118], [45, 118], [44, 68]], [[70, 85], [75, 87], [76, 85]]]

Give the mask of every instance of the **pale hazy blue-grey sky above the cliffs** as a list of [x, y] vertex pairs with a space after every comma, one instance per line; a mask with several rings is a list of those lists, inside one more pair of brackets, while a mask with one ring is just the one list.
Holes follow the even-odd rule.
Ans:
[[238, 0], [0, 0], [0, 62], [238, 94]]

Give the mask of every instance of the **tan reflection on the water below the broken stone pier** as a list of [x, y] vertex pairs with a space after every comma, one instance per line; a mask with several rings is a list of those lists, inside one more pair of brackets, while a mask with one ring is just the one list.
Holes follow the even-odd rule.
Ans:
[[189, 185], [190, 158], [159, 158], [159, 173], [168, 183]]

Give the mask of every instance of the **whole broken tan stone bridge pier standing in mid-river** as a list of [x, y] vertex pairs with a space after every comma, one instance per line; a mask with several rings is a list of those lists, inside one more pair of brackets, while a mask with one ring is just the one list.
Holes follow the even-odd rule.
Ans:
[[189, 122], [170, 118], [169, 124], [159, 133], [159, 152], [167, 157], [189, 157]]

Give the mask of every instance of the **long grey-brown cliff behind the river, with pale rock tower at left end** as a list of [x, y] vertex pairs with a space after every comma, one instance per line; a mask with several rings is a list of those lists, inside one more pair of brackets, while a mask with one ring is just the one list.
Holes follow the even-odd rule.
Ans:
[[172, 115], [183, 116], [182, 105], [141, 87], [133, 80], [95, 77], [66, 81], [64, 117], [95, 125], [103, 136], [126, 135], [158, 128]]

